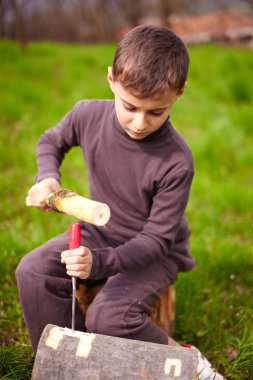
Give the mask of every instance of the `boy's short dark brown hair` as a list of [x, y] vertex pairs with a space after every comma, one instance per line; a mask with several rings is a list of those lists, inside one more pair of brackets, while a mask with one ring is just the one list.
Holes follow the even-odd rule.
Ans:
[[116, 50], [112, 74], [134, 95], [145, 98], [168, 88], [179, 92], [187, 79], [189, 54], [170, 29], [137, 26]]

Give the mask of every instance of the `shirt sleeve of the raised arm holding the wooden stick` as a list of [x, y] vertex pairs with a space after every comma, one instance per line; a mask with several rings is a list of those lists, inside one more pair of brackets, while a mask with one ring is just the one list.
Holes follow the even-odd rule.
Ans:
[[81, 102], [71, 110], [61, 122], [48, 129], [37, 145], [36, 182], [53, 177], [61, 181], [60, 166], [65, 154], [74, 146], [78, 146], [78, 110]]

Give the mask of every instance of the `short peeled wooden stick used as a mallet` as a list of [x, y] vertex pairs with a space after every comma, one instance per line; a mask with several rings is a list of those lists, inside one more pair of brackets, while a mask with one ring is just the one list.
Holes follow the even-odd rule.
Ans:
[[72, 190], [62, 189], [49, 194], [46, 203], [53, 210], [96, 226], [104, 226], [110, 219], [110, 208], [107, 204], [81, 197]]

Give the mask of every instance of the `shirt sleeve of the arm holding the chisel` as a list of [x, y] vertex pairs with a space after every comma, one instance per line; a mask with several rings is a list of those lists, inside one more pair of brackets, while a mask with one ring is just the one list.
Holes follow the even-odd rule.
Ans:
[[169, 255], [185, 212], [192, 179], [193, 171], [186, 169], [173, 179], [163, 180], [153, 198], [150, 216], [137, 236], [116, 248], [92, 250], [90, 278], [126, 273]]

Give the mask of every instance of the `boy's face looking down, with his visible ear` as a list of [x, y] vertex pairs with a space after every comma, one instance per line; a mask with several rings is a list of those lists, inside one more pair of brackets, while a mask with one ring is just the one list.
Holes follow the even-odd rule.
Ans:
[[115, 96], [115, 109], [120, 125], [132, 139], [142, 140], [157, 131], [167, 119], [173, 104], [182, 95], [168, 90], [140, 99], [115, 81], [111, 68], [108, 81]]

